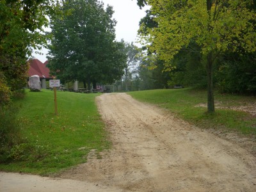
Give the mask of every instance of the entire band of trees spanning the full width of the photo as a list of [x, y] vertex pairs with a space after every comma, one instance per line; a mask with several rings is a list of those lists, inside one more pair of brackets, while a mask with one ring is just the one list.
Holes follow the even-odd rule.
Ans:
[[[113, 7], [97, 0], [1, 1], [1, 105], [26, 86], [26, 60], [47, 45], [49, 68], [61, 81], [121, 81], [124, 90], [174, 84], [255, 93], [255, 0], [138, 0], [150, 5], [138, 35], [143, 44], [115, 40]], [[51, 32], [45, 33], [44, 27]], [[132, 58], [132, 60], [131, 60]]]

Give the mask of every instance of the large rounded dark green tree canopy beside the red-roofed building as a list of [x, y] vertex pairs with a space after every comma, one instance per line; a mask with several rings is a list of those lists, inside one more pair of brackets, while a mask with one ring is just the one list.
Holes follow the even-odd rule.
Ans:
[[115, 42], [113, 8], [96, 0], [63, 1], [51, 22], [49, 67], [62, 81], [111, 83], [125, 65], [124, 43]]

